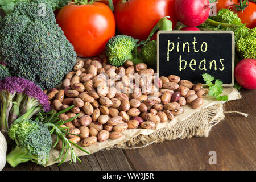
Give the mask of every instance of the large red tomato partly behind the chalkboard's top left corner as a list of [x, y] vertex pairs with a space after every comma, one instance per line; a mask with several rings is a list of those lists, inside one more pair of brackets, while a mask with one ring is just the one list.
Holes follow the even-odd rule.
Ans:
[[174, 13], [175, 0], [130, 0], [119, 1], [115, 6], [115, 20], [121, 34], [145, 40], [152, 28], [164, 16], [170, 16], [172, 27], [177, 24]]

